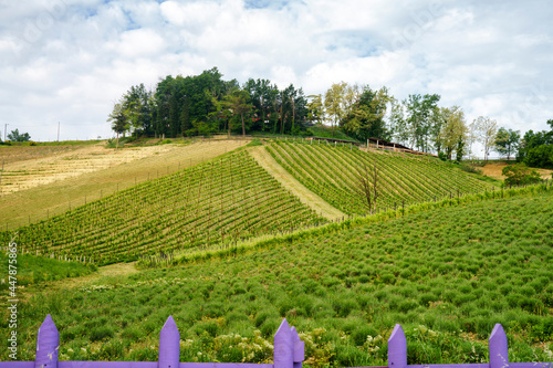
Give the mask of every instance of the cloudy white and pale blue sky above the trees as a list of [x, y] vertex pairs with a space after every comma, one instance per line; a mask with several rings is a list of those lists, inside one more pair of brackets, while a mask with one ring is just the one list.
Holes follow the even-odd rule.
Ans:
[[0, 0], [0, 128], [109, 137], [132, 85], [217, 66], [225, 80], [437, 93], [470, 123], [522, 133], [553, 118], [546, 0]]

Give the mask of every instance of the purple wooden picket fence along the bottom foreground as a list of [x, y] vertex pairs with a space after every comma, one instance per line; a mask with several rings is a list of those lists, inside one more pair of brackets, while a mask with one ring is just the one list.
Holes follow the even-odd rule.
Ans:
[[[0, 368], [302, 368], [304, 343], [294, 327], [282, 320], [274, 334], [273, 364], [180, 362], [180, 334], [171, 316], [159, 333], [158, 361], [58, 361], [60, 334], [50, 315], [36, 336], [34, 361], [0, 361]], [[407, 339], [396, 325], [388, 339], [387, 368], [553, 368], [553, 362], [509, 362], [507, 335], [497, 324], [489, 339], [490, 362], [457, 365], [407, 365]], [[386, 368], [386, 367], [365, 367]]]

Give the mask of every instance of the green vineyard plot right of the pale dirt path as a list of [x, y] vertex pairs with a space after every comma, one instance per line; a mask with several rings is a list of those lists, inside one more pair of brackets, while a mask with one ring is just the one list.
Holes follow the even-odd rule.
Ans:
[[358, 172], [376, 168], [376, 208], [396, 208], [492, 189], [492, 186], [429, 158], [362, 151], [351, 145], [321, 141], [274, 141], [269, 153], [293, 177], [325, 201], [348, 214], [368, 206], [358, 193]]

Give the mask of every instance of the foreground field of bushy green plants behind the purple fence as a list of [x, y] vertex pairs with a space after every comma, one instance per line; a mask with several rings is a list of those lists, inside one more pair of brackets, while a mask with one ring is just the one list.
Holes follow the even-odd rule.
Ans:
[[[62, 360], [157, 360], [173, 315], [180, 361], [268, 361], [286, 317], [310, 366], [386, 365], [404, 326], [409, 364], [486, 362], [501, 323], [510, 361], [551, 361], [553, 191], [325, 231], [249, 254], [32, 291], [22, 360], [48, 313]], [[3, 309], [2, 313], [6, 313]], [[1, 322], [1, 338], [8, 332]], [[0, 359], [6, 360], [6, 350]]]

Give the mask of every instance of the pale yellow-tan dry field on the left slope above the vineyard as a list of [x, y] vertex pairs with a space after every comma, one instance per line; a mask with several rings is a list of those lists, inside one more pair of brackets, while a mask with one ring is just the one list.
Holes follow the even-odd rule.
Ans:
[[[12, 165], [4, 167], [6, 172], [21, 169], [29, 174], [20, 176], [21, 181], [11, 186], [24, 188], [32, 181], [33, 187], [8, 193], [7, 181], [2, 179], [0, 188], [6, 192], [0, 196], [0, 227], [12, 230], [64, 213], [70, 206], [82, 206], [85, 201], [198, 165], [246, 144], [244, 140], [184, 141], [118, 150], [105, 148], [104, 144], [1, 148], [0, 155], [11, 155]], [[41, 149], [54, 150], [41, 154]], [[17, 165], [23, 168], [15, 169]], [[80, 167], [85, 169], [75, 172], [74, 169]]]

